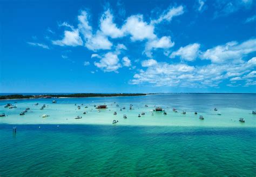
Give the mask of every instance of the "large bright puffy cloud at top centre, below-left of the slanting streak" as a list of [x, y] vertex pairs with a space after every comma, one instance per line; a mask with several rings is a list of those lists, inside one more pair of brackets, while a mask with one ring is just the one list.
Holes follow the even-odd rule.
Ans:
[[154, 26], [143, 21], [143, 15], [133, 15], [126, 19], [122, 30], [131, 35], [131, 40], [154, 39]]

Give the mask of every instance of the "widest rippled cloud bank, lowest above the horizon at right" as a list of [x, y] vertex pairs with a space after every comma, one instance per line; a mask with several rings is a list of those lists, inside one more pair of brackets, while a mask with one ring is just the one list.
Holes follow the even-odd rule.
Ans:
[[[147, 69], [140, 70], [139, 73], [134, 74], [131, 84], [218, 87], [225, 79], [230, 79], [231, 81], [244, 80], [245, 86], [253, 85], [255, 72], [252, 70], [255, 69], [256, 63], [255, 58], [242, 63], [208, 64], [203, 66], [158, 63], [156, 60], [146, 60], [143, 66], [147, 67]], [[251, 80], [248, 80], [248, 78]]]

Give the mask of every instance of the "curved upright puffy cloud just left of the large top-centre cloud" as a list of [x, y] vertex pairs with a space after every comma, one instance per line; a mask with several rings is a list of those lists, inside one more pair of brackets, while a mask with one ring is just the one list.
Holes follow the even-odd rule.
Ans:
[[113, 23], [113, 15], [109, 9], [100, 18], [100, 30], [102, 30], [104, 35], [110, 36], [111, 38], [124, 36], [123, 30], [118, 29], [117, 25]]

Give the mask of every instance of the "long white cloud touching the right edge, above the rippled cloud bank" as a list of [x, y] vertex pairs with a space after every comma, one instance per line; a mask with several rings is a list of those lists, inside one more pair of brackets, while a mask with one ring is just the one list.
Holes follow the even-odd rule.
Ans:
[[210, 59], [212, 63], [240, 62], [242, 57], [256, 51], [256, 39], [249, 39], [239, 44], [229, 42], [218, 45], [202, 53], [201, 59]]

